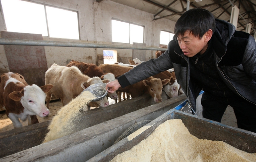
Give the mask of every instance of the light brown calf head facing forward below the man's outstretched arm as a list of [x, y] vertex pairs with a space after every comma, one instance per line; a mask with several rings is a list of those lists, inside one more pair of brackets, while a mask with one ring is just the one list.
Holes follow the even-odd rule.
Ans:
[[143, 84], [148, 87], [148, 93], [149, 95], [154, 98], [155, 102], [162, 102], [162, 89], [163, 86], [166, 85], [170, 80], [169, 79], [164, 79], [161, 81], [158, 78], [151, 79], [150, 81], [148, 80], [143, 80]]

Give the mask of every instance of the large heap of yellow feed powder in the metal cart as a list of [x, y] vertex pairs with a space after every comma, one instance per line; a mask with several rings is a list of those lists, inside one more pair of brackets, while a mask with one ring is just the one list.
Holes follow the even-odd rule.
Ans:
[[[150, 126], [148, 126], [150, 127]], [[133, 139], [142, 127], [130, 136]], [[198, 139], [191, 135], [180, 119], [160, 124], [156, 130], [111, 162], [256, 162], [256, 153], [247, 153], [222, 141]]]

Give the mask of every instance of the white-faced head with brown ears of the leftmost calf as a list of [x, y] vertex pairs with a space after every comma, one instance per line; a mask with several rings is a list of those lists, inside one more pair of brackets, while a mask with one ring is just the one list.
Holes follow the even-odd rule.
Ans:
[[45, 106], [45, 93], [52, 89], [51, 84], [42, 87], [28, 85], [21, 91], [14, 91], [9, 97], [14, 101], [20, 101], [24, 109], [28, 110], [29, 115], [47, 116], [50, 111]]

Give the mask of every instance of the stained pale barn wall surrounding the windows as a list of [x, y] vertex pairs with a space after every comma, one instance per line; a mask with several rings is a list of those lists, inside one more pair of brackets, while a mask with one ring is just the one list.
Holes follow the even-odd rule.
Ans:
[[[168, 19], [152, 21], [154, 18], [152, 14], [118, 4], [110, 0], [104, 0], [100, 3], [97, 3], [95, 0], [30, 1], [78, 11], [80, 40], [43, 37], [44, 40], [130, 45], [112, 42], [111, 19], [116, 18], [136, 23], [138, 25], [143, 25], [145, 27], [144, 43], [146, 46], [158, 47], [160, 31], [165, 30], [173, 32], [175, 25], [175, 22]], [[0, 17], [0, 30], [6, 31], [3, 15]], [[106, 49], [45, 46], [47, 66], [49, 68], [53, 63], [66, 66], [72, 59], [87, 63], [100, 64], [103, 63], [103, 50]], [[109, 50], [117, 50], [118, 62], [129, 63], [128, 59], [132, 59], [132, 50]], [[155, 58], [155, 52], [156, 51], [146, 50], [146, 60]], [[8, 71], [9, 67], [4, 53], [4, 47], [3, 45], [0, 45], [0, 74]]]

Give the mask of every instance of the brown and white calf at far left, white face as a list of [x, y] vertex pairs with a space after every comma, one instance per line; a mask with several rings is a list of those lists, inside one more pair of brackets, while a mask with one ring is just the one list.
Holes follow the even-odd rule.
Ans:
[[45, 93], [52, 85], [38, 87], [28, 85], [18, 73], [4, 73], [0, 76], [0, 105], [6, 109], [14, 128], [22, 127], [20, 123], [28, 119], [28, 125], [38, 123], [38, 116], [47, 116], [50, 111], [45, 107]]

